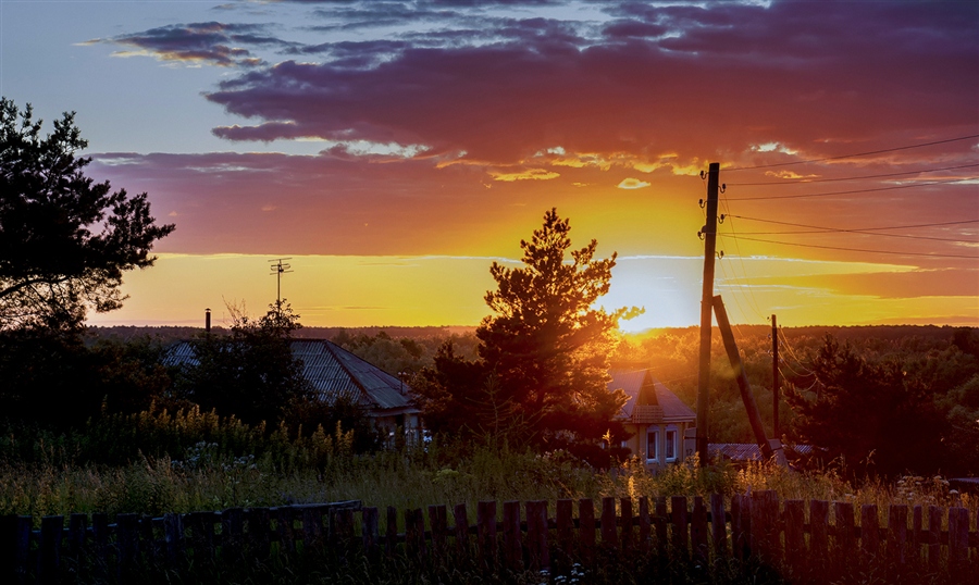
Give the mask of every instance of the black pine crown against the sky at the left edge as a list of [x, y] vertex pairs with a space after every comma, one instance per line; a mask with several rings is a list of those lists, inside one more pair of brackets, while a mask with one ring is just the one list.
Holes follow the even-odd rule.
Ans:
[[74, 113], [40, 130], [29, 104], [0, 100], [0, 329], [76, 328], [88, 308], [120, 308], [123, 273], [151, 265], [174, 229], [156, 224], [146, 194], [85, 175]]

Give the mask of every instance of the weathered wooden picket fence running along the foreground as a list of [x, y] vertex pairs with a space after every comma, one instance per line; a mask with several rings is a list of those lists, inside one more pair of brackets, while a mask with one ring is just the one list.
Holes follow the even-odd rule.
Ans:
[[780, 502], [774, 491], [733, 496], [728, 508], [721, 495], [692, 500], [603, 498], [596, 509], [593, 500], [581, 499], [577, 515], [570, 499], [553, 507], [506, 501], [501, 515], [496, 501], [481, 501], [475, 524], [464, 503], [453, 508], [451, 524], [446, 506], [401, 514], [392, 507], [383, 533], [380, 510], [357, 500], [162, 518], [119, 514], [114, 524], [106, 514], [91, 514], [90, 522], [87, 514], [71, 514], [65, 526], [64, 516], [52, 515], [40, 519], [39, 530], [32, 516], [4, 516], [0, 582], [52, 583], [65, 572], [127, 582], [147, 563], [179, 570], [191, 561], [236, 562], [246, 556], [268, 559], [330, 549], [374, 558], [404, 555], [419, 562], [476, 555], [511, 570], [546, 569], [558, 549], [584, 563], [605, 549], [705, 562], [753, 560], [796, 574], [804, 574], [798, 571], [803, 564], [840, 562], [873, 562], [896, 574], [909, 565], [940, 573], [979, 568], [979, 528], [965, 508], [890, 506], [881, 516], [876, 505]]

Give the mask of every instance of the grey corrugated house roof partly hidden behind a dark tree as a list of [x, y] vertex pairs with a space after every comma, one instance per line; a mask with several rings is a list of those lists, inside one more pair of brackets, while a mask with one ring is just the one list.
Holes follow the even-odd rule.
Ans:
[[[325, 339], [293, 339], [292, 349], [293, 356], [302, 361], [302, 374], [321, 400], [346, 396], [367, 407], [374, 416], [418, 412], [407, 384], [336, 344]], [[196, 365], [194, 344], [174, 344], [164, 362]]]

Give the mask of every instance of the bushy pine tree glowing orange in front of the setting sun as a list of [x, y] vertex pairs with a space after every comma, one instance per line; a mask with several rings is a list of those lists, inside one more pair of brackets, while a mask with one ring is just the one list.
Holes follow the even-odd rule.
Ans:
[[476, 329], [480, 361], [469, 364], [450, 348], [436, 357], [434, 371], [419, 376], [426, 420], [505, 431], [512, 441], [547, 448], [595, 445], [609, 432], [624, 437], [612, 420], [625, 397], [606, 384], [618, 321], [636, 310], [594, 308], [608, 292], [616, 254], [595, 260], [595, 240], [572, 250], [570, 231], [552, 209], [520, 242], [522, 267], [493, 263], [497, 289], [485, 299], [496, 314]]

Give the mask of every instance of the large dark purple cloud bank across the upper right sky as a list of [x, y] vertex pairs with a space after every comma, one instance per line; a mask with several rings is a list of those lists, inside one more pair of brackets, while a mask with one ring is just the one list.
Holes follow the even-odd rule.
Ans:
[[977, 123], [974, 4], [632, 5], [604, 45], [546, 18], [485, 22], [503, 40], [392, 43], [364, 69], [349, 55], [286, 61], [208, 99], [294, 124], [282, 137], [420, 142], [503, 163], [554, 146], [710, 153], [776, 140], [831, 154], [837, 142]]

